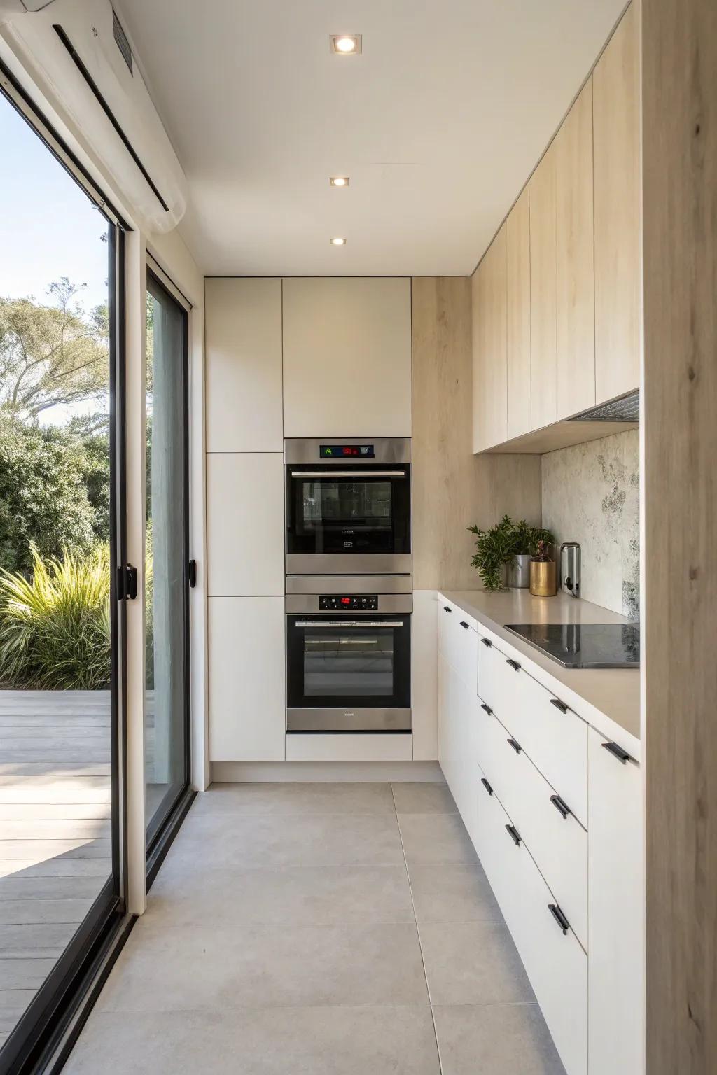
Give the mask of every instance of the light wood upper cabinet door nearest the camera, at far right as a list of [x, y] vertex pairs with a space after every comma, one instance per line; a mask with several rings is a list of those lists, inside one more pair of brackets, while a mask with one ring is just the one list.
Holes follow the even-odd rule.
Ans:
[[596, 395], [640, 385], [640, 0], [592, 75], [594, 123]]

